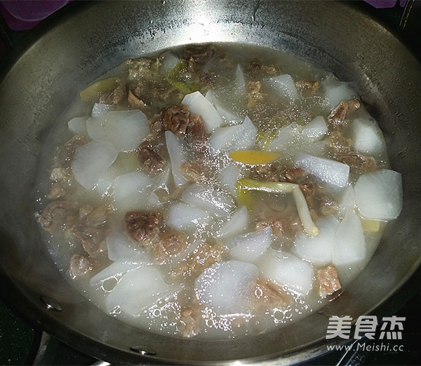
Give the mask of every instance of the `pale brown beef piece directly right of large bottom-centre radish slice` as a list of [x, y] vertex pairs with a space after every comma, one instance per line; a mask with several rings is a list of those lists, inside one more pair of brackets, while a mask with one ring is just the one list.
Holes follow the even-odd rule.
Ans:
[[270, 280], [258, 279], [255, 296], [258, 310], [287, 309], [291, 304], [288, 294]]

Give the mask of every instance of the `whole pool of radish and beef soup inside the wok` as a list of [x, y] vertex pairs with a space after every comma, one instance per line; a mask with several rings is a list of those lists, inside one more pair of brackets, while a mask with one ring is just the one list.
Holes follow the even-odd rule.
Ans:
[[48, 137], [36, 219], [110, 316], [173, 337], [287, 325], [340, 296], [401, 210], [352, 83], [261, 46], [126, 60]]

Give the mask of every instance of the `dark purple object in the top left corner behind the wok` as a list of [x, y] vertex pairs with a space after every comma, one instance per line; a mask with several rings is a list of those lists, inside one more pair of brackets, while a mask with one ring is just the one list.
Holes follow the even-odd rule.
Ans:
[[65, 6], [69, 0], [0, 0], [0, 11], [10, 29], [31, 29]]

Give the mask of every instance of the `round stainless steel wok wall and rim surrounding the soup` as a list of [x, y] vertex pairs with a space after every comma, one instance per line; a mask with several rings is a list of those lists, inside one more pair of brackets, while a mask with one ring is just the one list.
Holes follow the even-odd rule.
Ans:
[[[192, 42], [282, 48], [355, 81], [403, 175], [399, 219], [366, 269], [328, 307], [246, 339], [161, 337], [121, 323], [61, 276], [34, 220], [37, 158], [49, 128], [79, 90], [124, 58]], [[291, 363], [326, 351], [328, 316], [391, 315], [420, 281], [421, 66], [385, 28], [340, 2], [104, 1], [77, 7], [4, 72], [0, 85], [1, 287], [34, 323], [111, 362]]]

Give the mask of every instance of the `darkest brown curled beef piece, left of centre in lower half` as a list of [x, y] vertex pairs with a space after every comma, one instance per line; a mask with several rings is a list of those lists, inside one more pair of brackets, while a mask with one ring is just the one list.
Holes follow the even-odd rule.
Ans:
[[125, 221], [128, 236], [136, 243], [142, 243], [159, 229], [161, 217], [156, 211], [128, 211]]

